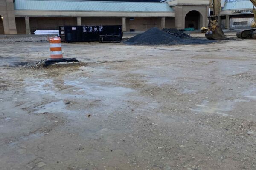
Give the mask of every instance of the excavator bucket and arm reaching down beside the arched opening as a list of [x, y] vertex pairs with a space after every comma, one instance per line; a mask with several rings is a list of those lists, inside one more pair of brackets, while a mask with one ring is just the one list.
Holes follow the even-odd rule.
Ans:
[[[211, 15], [211, 7], [213, 6], [213, 15]], [[221, 11], [221, 0], [210, 0], [209, 6], [209, 24], [205, 37], [209, 40], [222, 40], [226, 38], [221, 26], [218, 25], [218, 17]]]

